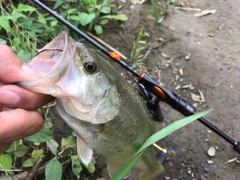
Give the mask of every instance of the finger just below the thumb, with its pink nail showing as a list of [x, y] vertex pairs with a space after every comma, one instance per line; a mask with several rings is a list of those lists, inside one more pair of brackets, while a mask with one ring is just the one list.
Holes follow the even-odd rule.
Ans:
[[16, 85], [0, 86], [0, 97], [0, 104], [26, 110], [36, 110], [53, 100], [52, 96], [34, 93]]

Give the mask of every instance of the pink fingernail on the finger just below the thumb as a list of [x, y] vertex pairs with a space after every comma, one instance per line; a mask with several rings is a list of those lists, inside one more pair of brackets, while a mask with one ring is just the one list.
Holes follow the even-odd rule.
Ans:
[[9, 90], [0, 91], [0, 103], [6, 105], [14, 105], [19, 101], [20, 96]]

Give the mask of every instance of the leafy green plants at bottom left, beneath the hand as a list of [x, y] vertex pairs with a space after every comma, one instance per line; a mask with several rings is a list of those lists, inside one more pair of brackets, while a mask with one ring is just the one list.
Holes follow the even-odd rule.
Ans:
[[[38, 133], [13, 142], [7, 153], [0, 155], [0, 171], [13, 176], [16, 172], [27, 171], [36, 166], [38, 161], [45, 159], [46, 162], [42, 164], [47, 180], [62, 179], [63, 168], [68, 165], [71, 165], [73, 174], [79, 177], [82, 165], [76, 154], [76, 138], [70, 135], [58, 144], [53, 139], [52, 123], [45, 118]], [[93, 164], [91, 165], [86, 168], [93, 172]]]

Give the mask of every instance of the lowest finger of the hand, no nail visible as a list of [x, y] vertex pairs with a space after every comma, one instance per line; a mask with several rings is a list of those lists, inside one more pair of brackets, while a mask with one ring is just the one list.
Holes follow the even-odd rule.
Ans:
[[37, 111], [14, 109], [0, 113], [0, 142], [11, 143], [40, 130], [43, 119]]

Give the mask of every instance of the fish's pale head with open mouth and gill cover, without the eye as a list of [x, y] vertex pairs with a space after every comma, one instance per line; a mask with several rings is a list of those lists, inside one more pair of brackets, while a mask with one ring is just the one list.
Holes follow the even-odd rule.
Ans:
[[118, 114], [117, 87], [109, 83], [101, 70], [94, 74], [84, 71], [85, 59], [81, 58], [86, 55], [93, 58], [83, 44], [61, 33], [27, 64], [39, 78], [19, 85], [56, 97], [65, 113], [79, 120], [92, 124], [108, 122]]

